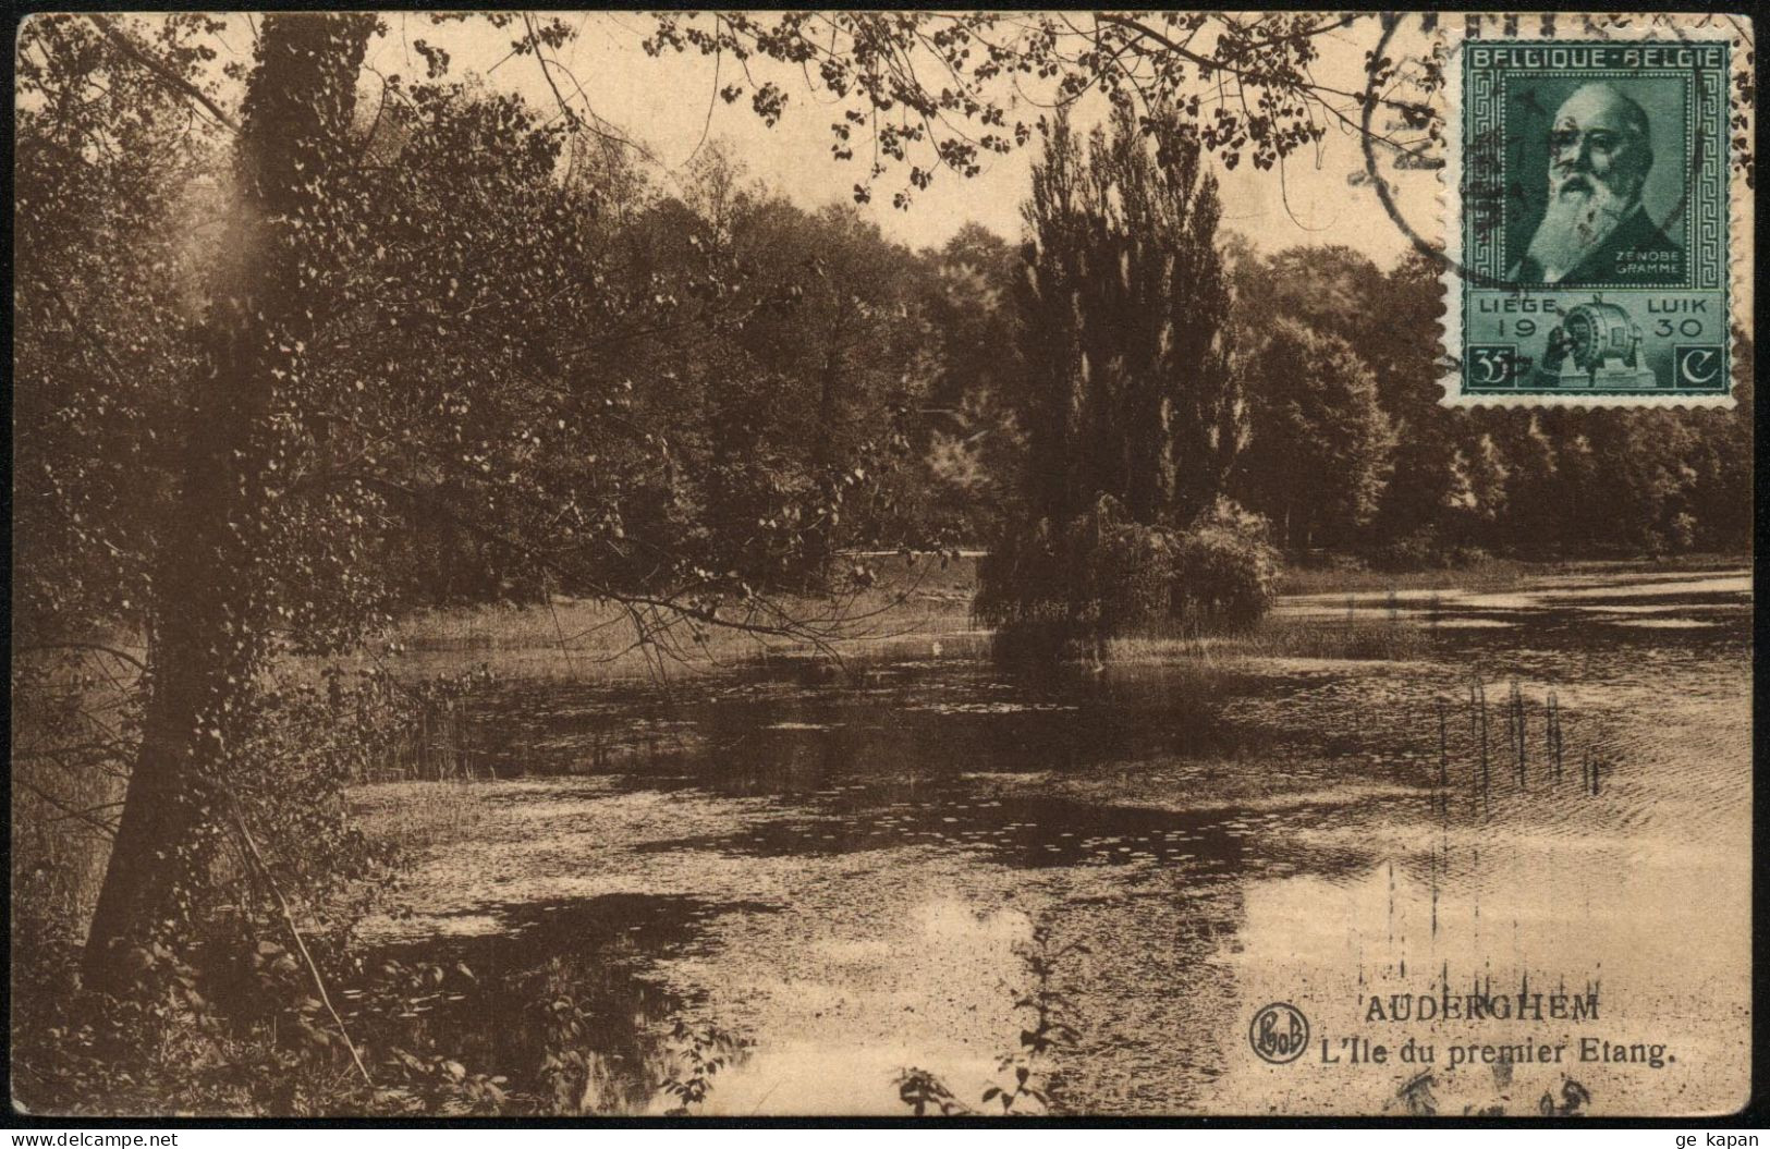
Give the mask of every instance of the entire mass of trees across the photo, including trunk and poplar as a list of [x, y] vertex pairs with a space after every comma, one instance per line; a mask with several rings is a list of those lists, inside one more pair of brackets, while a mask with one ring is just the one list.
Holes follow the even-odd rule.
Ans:
[[[568, 591], [804, 636], [768, 595], [866, 581], [835, 559], [883, 545], [1110, 535], [1172, 549], [1184, 600], [1262, 533], [1395, 565], [1749, 538], [1749, 381], [1731, 413], [1439, 407], [1435, 267], [1221, 235], [1209, 158], [1244, 136], [1197, 99], [1120, 101], [1085, 142], [1046, 124], [1025, 248], [972, 227], [910, 251], [717, 147], [646, 175], [434, 51], [373, 90], [377, 30], [273, 16], [228, 69], [195, 16], [41, 18], [16, 46], [14, 625], [147, 652], [94, 984], [248, 816], [228, 779], [264, 669], [400, 607]], [[1297, 96], [1306, 41], [1243, 83]], [[827, 81], [901, 103], [866, 58]], [[1262, 131], [1306, 119], [1285, 108]]]

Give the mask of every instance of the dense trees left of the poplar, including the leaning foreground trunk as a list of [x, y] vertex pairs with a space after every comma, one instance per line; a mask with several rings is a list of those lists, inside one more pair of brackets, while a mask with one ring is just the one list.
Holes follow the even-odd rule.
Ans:
[[[535, 53], [563, 35], [524, 23]], [[41, 18], [18, 44], [16, 625], [145, 648], [87, 931], [112, 991], [212, 901], [235, 830], [281, 829], [241, 761], [281, 653], [556, 590], [816, 637], [766, 595], [963, 528], [926, 460], [975, 482], [977, 391], [927, 315], [995, 322], [975, 251], [904, 251], [729, 158], [664, 193], [435, 51], [373, 92], [373, 18], [271, 16], [250, 67], [216, 32]]]

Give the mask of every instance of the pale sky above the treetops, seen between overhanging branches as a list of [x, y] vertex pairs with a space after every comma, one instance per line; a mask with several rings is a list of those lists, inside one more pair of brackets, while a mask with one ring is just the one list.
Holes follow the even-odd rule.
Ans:
[[[773, 78], [789, 92], [786, 115], [766, 127], [747, 97], [733, 104], [713, 99], [719, 85], [742, 78], [729, 58], [715, 73], [715, 62], [699, 53], [648, 57], [641, 41], [651, 25], [643, 14], [561, 16], [577, 28], [577, 35], [558, 53], [558, 60], [582, 89], [579, 94], [563, 74], [556, 74], [566, 99], [575, 108], [588, 101], [596, 117], [623, 135], [643, 140], [658, 159], [660, 168], [653, 168], [653, 174], [664, 186], [669, 186], [669, 174], [692, 159], [704, 140], [724, 140], [750, 175], [795, 204], [818, 207], [832, 200], [851, 200], [855, 181], [866, 175], [866, 156], [846, 163], [830, 156], [828, 124], [834, 112], [818, 106], [798, 69], [768, 71], [779, 66], [752, 66], [756, 80]], [[386, 19], [388, 35], [370, 46], [370, 67], [421, 78], [425, 62], [412, 51], [412, 41], [423, 39], [450, 53], [453, 76], [480, 73], [490, 87], [515, 90], [538, 108], [558, 104], [536, 60], [510, 55], [512, 39], [520, 34], [520, 27], [499, 30], [483, 21], [435, 27], [421, 14], [389, 14]], [[242, 34], [244, 48], [250, 50], [250, 30]], [[1345, 69], [1359, 74], [1363, 53], [1375, 35], [1374, 21], [1361, 21], [1329, 37], [1319, 74]], [[1025, 112], [1028, 120], [1035, 115], [1034, 108]], [[915, 193], [908, 211], [890, 204], [892, 193], [906, 179], [906, 168], [894, 166], [874, 184], [874, 200], [864, 211], [889, 237], [912, 248], [938, 246], [970, 220], [1018, 239], [1020, 204], [1028, 189], [1035, 150], [1034, 142], [1007, 156], [991, 156], [984, 172], [972, 179], [940, 172], [931, 188]], [[1218, 165], [1223, 228], [1248, 235], [1266, 251], [1343, 243], [1363, 250], [1379, 266], [1389, 266], [1407, 251], [1409, 241], [1389, 221], [1368, 186], [1349, 182], [1349, 175], [1361, 170], [1358, 140], [1338, 131], [1329, 131], [1315, 154], [1294, 156], [1283, 172], [1257, 172], [1251, 165], [1225, 172]], [[1402, 189], [1404, 211], [1416, 230], [1437, 230], [1432, 220], [1437, 211], [1435, 191], [1430, 174], [1414, 174]]]

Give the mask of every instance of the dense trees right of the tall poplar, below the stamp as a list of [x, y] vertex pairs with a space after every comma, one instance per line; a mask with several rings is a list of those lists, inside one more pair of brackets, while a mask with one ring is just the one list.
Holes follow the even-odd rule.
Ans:
[[1257, 347], [1230, 487], [1290, 549], [1418, 567], [1751, 545], [1749, 340], [1733, 411], [1448, 409], [1435, 262], [1230, 246]]

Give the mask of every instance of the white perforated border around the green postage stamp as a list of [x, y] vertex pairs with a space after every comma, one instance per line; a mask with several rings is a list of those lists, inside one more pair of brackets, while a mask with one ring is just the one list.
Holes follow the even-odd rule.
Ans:
[[[1623, 409], [1731, 409], [1735, 407], [1733, 382], [1724, 395], [1595, 395], [1595, 393], [1515, 393], [1515, 395], [1467, 395], [1462, 389], [1462, 48], [1471, 39], [1506, 39], [1552, 44], [1563, 39], [1683, 39], [1683, 41], [1724, 41], [1731, 44], [1728, 53], [1728, 101], [1729, 122], [1738, 112], [1731, 106], [1731, 94], [1742, 73], [1749, 74], [1747, 60], [1752, 51], [1752, 37], [1738, 23], [1751, 25], [1747, 16], [1685, 16], [1685, 14], [1635, 14], [1635, 16], [1559, 16], [1552, 30], [1547, 30], [1542, 14], [1489, 14], [1450, 18], [1439, 25], [1441, 46], [1444, 51], [1444, 166], [1439, 172], [1439, 220], [1444, 227], [1444, 273], [1439, 276], [1441, 303], [1444, 305], [1441, 320], [1439, 354], [1446, 365], [1446, 374], [1439, 379], [1444, 393], [1439, 404], [1444, 407], [1623, 407]], [[1471, 27], [1483, 27], [1481, 34], [1471, 35]], [[1506, 28], [1494, 35], [1485, 28]], [[1729, 368], [1740, 361], [1738, 331], [1751, 333], [1752, 299], [1752, 232], [1756, 218], [1751, 214], [1751, 188], [1745, 175], [1733, 165], [1733, 135], [1752, 138], [1756, 106], [1745, 108], [1747, 124], [1736, 133], [1729, 133], [1726, 156], [1728, 186], [1728, 271], [1722, 276], [1728, 303], [1728, 354]]]

